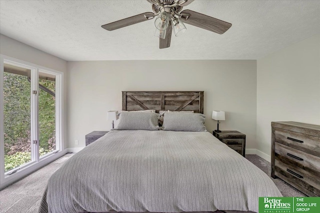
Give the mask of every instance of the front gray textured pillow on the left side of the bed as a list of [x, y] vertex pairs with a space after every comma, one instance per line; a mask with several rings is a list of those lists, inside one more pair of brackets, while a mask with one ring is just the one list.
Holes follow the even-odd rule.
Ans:
[[116, 130], [159, 130], [158, 114], [153, 112], [121, 112]]

